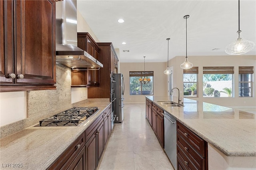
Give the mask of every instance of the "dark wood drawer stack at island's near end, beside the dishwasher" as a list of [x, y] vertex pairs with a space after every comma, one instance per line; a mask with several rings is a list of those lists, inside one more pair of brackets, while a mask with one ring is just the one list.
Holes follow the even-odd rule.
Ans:
[[208, 170], [208, 144], [177, 121], [178, 169]]

